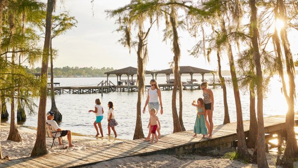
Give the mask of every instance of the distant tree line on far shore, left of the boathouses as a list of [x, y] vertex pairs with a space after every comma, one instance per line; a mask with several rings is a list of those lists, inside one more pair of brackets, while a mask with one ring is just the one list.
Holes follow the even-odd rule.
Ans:
[[[41, 67], [37, 68], [27, 68], [27, 72], [29, 73], [40, 73]], [[74, 76], [91, 76], [91, 77], [97, 77], [97, 76], [104, 76], [105, 72], [115, 70], [114, 68], [110, 67], [102, 67], [102, 68], [95, 68], [95, 67], [70, 67], [70, 66], [64, 66], [64, 67], [54, 67], [53, 68], [53, 74], [55, 77], [74, 77]], [[50, 72], [50, 67], [48, 69], [48, 72]]]

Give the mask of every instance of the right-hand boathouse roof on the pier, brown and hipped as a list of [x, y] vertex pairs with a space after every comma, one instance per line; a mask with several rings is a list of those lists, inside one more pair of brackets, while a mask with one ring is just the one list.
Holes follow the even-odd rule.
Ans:
[[[180, 73], [201, 73], [201, 74], [204, 74], [204, 73], [216, 73], [215, 71], [213, 70], [207, 70], [207, 69], [201, 69], [201, 68], [197, 68], [197, 67], [193, 67], [193, 66], [179, 66], [180, 68]], [[156, 74], [158, 73], [165, 73], [165, 74], [171, 74], [173, 73], [173, 69], [172, 68], [169, 68], [169, 69], [164, 69], [164, 70], [160, 70], [160, 71], [157, 71], [155, 72]]]

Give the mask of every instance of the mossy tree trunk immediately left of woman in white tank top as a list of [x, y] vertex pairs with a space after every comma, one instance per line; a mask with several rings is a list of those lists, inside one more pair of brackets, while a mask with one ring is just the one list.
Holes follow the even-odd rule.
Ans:
[[[150, 29], [149, 29], [150, 30]], [[147, 33], [149, 33], [149, 30]], [[137, 102], [137, 120], [136, 120], [136, 128], [135, 128], [135, 134], [134, 139], [140, 139], [144, 138], [144, 132], [142, 127], [142, 116], [141, 116], [141, 105], [142, 105], [142, 96], [144, 95], [145, 91], [145, 62], [144, 58], [146, 60], [147, 58], [147, 52], [143, 52], [144, 50], [144, 32], [143, 32], [143, 18], [140, 16], [139, 18], [139, 43], [138, 43], [138, 102]]]

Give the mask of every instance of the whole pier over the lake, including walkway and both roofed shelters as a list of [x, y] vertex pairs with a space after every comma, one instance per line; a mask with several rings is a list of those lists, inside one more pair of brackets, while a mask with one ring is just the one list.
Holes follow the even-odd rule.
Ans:
[[[210, 73], [213, 75], [213, 82], [209, 84], [209, 86], [215, 87], [221, 87], [221, 84], [215, 83], [215, 71], [207, 70], [207, 69], [201, 69], [197, 67], [192, 66], [180, 66], [180, 75], [182, 74], [189, 74], [190, 79], [186, 82], [182, 82], [183, 90], [199, 90], [200, 89], [200, 83], [196, 79], [193, 79], [194, 74], [201, 74], [202, 75], [202, 82], [206, 81], [204, 79], [204, 76], [206, 73]], [[134, 75], [138, 74], [138, 69], [135, 67], [126, 67], [118, 70], [113, 70], [110, 72], [105, 73], [107, 75], [107, 80], [103, 80], [99, 82], [98, 85], [85, 85], [85, 86], [60, 86], [60, 83], [55, 83], [54, 91], [55, 94], [63, 94], [63, 93], [69, 93], [69, 94], [91, 94], [91, 93], [109, 93], [109, 92], [137, 92], [138, 86], [137, 86], [137, 80], [133, 78]], [[158, 86], [161, 90], [173, 90], [174, 83], [173, 79], [170, 79], [170, 75], [173, 74], [172, 69], [165, 69], [161, 71], [145, 71], [145, 74], [152, 75], [152, 79], [155, 79], [158, 74], [165, 74], [166, 75], [166, 83], [160, 84], [158, 82]], [[117, 76], [117, 82], [116, 84], [111, 82], [109, 80], [110, 75], [116, 75]], [[121, 79], [122, 75], [126, 75], [127, 79]], [[57, 84], [59, 86], [57, 86]], [[150, 88], [150, 85], [146, 85], [146, 88]], [[51, 88], [48, 87], [48, 93], [51, 92]]]

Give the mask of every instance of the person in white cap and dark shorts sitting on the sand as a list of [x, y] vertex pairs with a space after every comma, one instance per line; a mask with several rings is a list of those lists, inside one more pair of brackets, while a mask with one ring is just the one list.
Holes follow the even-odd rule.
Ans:
[[59, 139], [59, 145], [63, 145], [61, 142], [61, 137], [67, 135], [67, 139], [69, 141], [69, 147], [74, 147], [74, 145], [72, 144], [72, 132], [70, 130], [62, 130], [61, 128], [59, 128], [57, 122], [54, 121], [53, 119], [54, 119], [54, 112], [47, 112], [46, 122], [51, 125], [52, 131], [53, 132], [61, 131], [61, 132], [57, 132], [57, 134], [55, 134], [55, 137], [58, 137], [58, 139]]

